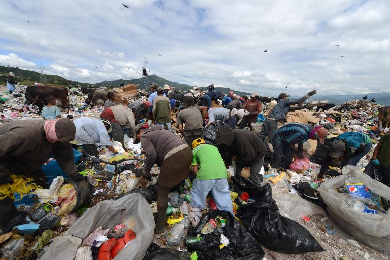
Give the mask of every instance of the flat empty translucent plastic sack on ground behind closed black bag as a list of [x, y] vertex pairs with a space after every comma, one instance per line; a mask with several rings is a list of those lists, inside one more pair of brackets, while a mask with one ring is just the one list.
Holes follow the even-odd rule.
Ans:
[[316, 214], [325, 215], [325, 211], [321, 207], [302, 199], [298, 193], [279, 193], [272, 197], [279, 208], [280, 215], [289, 219], [297, 220]]

